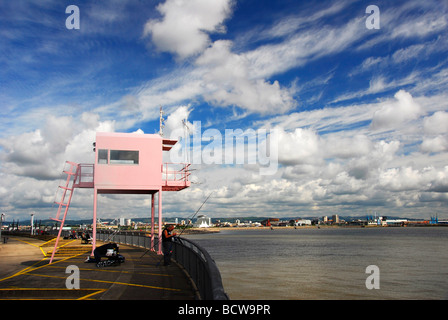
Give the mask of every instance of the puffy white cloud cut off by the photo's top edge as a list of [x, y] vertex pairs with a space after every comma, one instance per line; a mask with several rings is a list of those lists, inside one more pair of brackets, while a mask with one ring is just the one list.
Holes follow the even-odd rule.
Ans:
[[201, 53], [209, 44], [209, 33], [223, 32], [223, 22], [232, 11], [231, 0], [167, 0], [157, 6], [161, 20], [149, 20], [144, 36], [151, 35], [161, 51], [184, 59]]

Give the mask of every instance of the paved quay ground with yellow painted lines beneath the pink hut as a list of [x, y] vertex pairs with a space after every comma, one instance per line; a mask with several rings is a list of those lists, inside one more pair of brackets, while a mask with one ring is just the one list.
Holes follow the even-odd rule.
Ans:
[[[145, 249], [120, 245], [126, 262], [97, 268], [95, 263], [84, 262], [91, 245], [81, 245], [80, 240], [59, 243], [52, 264], [52, 241], [10, 236], [6, 244], [0, 244], [0, 299], [195, 299], [182, 269], [176, 264], [158, 266], [161, 256], [154, 252], [141, 258]], [[70, 271], [66, 273], [68, 266], [79, 269], [80, 289], [67, 289], [67, 278], [73, 277]]]

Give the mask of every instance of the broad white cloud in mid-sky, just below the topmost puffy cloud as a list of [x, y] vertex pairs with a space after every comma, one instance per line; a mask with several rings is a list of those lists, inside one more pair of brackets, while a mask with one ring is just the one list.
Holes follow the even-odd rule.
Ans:
[[218, 40], [188, 67], [150, 82], [136, 94], [143, 118], [153, 117], [160, 105], [178, 106], [203, 100], [211, 106], [239, 107], [247, 114], [281, 114], [297, 106], [295, 88], [267, 81], [251, 73], [244, 54], [232, 51], [231, 41]]

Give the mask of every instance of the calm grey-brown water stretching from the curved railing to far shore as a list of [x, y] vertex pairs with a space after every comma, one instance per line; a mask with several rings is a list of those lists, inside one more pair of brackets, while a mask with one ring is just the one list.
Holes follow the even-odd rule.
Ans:
[[[185, 236], [236, 299], [448, 299], [448, 227], [225, 230]], [[368, 290], [366, 267], [380, 270]]]

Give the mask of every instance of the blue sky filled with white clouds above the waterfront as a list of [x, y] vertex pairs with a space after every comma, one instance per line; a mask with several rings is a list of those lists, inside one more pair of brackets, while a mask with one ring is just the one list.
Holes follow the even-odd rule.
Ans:
[[[67, 29], [69, 5], [80, 28]], [[379, 29], [368, 29], [369, 5]], [[65, 160], [96, 131], [276, 129], [275, 174], [197, 164], [167, 194], [188, 216], [448, 218], [448, 6], [443, 1], [3, 1], [0, 209], [52, 216]], [[70, 215], [91, 215], [91, 192]], [[146, 216], [140, 196], [104, 217]], [[125, 201], [126, 207], [118, 205]]]

